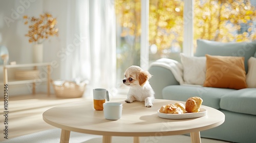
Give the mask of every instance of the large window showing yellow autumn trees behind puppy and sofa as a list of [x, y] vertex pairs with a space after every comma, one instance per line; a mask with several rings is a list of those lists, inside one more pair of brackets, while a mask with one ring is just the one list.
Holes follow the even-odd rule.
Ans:
[[[222, 42], [256, 39], [253, 4], [256, 0], [252, 3], [246, 0], [150, 0], [149, 63], [160, 58], [179, 61], [180, 52], [193, 55], [197, 39]], [[117, 86], [121, 87], [125, 69], [140, 65], [143, 54], [140, 53], [141, 0], [115, 0], [115, 6]]]

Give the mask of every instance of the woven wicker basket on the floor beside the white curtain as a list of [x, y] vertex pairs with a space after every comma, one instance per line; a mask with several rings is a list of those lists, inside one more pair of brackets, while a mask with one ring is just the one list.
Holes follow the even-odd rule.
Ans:
[[86, 89], [86, 83], [78, 85], [70, 81], [52, 81], [52, 85], [58, 98], [80, 98]]

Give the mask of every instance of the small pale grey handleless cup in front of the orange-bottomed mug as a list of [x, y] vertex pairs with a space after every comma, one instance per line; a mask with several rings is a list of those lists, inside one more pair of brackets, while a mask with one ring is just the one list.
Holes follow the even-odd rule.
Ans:
[[118, 120], [122, 115], [123, 105], [117, 102], [103, 103], [104, 116], [108, 120]]

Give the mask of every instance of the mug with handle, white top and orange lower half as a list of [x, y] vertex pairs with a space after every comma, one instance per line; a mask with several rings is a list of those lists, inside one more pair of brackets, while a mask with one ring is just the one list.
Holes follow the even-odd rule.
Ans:
[[104, 88], [93, 89], [93, 106], [95, 110], [103, 110], [103, 103], [110, 101], [109, 91]]

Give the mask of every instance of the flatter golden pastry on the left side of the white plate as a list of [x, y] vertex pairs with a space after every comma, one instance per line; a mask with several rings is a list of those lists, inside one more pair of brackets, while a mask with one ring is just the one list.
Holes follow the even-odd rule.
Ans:
[[[176, 106], [177, 105], [177, 106]], [[179, 107], [178, 107], [179, 106]], [[167, 114], [183, 114], [185, 113], [183, 109], [185, 106], [182, 103], [177, 103], [175, 105], [173, 104], [167, 104], [165, 106], [162, 106], [159, 110], [161, 113], [167, 113]]]

